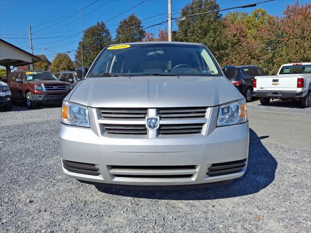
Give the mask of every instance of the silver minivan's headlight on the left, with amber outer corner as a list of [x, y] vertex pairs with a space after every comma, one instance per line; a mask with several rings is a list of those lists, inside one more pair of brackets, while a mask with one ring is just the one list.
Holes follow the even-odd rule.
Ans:
[[62, 107], [62, 123], [67, 125], [90, 127], [87, 107], [64, 101]]

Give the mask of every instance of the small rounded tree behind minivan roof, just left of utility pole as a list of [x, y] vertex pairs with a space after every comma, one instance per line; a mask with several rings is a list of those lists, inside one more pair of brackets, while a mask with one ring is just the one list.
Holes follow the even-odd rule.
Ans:
[[115, 41], [116, 43], [137, 42], [142, 41], [144, 37], [145, 31], [141, 20], [135, 14], [132, 14], [120, 21]]

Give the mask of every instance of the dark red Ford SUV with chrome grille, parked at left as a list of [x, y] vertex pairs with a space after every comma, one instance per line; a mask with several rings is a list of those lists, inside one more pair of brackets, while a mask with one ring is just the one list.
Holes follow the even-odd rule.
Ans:
[[71, 86], [59, 81], [51, 72], [42, 70], [17, 70], [8, 75], [7, 84], [14, 101], [24, 101], [28, 108], [38, 103], [62, 103]]

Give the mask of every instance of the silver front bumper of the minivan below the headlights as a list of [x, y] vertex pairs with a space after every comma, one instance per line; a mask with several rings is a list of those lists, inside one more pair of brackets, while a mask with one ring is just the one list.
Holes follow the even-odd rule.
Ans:
[[[62, 166], [71, 178], [113, 185], [186, 185], [241, 177], [247, 166], [248, 122], [218, 127], [207, 134], [189, 138], [109, 138], [92, 129], [61, 124]], [[93, 164], [99, 175], [69, 171], [64, 166], [67, 161]], [[207, 174], [214, 164], [231, 161], [244, 161], [245, 166], [238, 172]]]

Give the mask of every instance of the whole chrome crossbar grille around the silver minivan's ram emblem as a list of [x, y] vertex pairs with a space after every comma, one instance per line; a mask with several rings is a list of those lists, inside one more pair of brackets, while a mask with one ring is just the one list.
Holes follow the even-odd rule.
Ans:
[[[156, 138], [159, 135], [199, 134], [207, 123], [207, 107], [185, 108], [101, 108], [99, 124], [106, 134], [133, 134]], [[146, 117], [159, 117], [159, 128], [146, 127]], [[140, 135], [140, 136], [139, 136]], [[146, 136], [144, 136], [146, 135]]]

